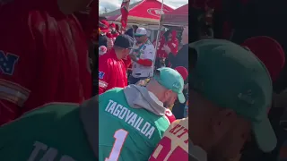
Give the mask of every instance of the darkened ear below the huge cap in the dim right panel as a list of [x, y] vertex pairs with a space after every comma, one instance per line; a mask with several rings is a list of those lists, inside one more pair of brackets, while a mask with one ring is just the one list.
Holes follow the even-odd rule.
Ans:
[[222, 109], [212, 118], [213, 133], [219, 140], [234, 125], [237, 114], [231, 109]]

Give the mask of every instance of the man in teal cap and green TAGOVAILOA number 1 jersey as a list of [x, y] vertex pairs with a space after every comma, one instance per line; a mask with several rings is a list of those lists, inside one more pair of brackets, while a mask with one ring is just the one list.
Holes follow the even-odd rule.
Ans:
[[182, 94], [184, 80], [171, 68], [158, 69], [146, 87], [111, 89], [99, 97], [100, 161], [147, 161], [170, 125], [167, 106]]

